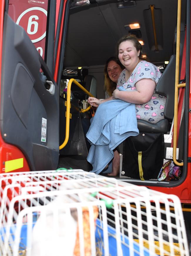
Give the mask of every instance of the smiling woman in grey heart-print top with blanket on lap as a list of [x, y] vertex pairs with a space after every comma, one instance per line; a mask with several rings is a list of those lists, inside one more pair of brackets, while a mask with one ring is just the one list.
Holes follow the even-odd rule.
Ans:
[[125, 69], [121, 72], [116, 89], [108, 99], [88, 98], [91, 106], [98, 107], [108, 100], [120, 99], [134, 103], [136, 116], [151, 123], [164, 118], [166, 97], [156, 94], [155, 87], [161, 76], [159, 69], [141, 59], [142, 46], [134, 35], [126, 35], [117, 43], [118, 58]]

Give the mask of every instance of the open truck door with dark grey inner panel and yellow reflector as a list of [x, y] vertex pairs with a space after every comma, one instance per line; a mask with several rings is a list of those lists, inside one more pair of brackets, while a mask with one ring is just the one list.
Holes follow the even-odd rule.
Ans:
[[[41, 49], [38, 52], [24, 28], [11, 19], [7, 2], [0, 4], [1, 172], [56, 169], [58, 86], [39, 54]], [[38, 29], [37, 22], [37, 15], [29, 15], [31, 32]], [[52, 35], [48, 39], [54, 42]]]

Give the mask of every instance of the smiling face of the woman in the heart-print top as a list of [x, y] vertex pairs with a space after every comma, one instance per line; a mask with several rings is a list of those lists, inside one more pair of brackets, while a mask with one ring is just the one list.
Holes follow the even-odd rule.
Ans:
[[127, 70], [132, 71], [139, 61], [140, 50], [137, 51], [132, 41], [124, 41], [119, 45], [118, 58]]

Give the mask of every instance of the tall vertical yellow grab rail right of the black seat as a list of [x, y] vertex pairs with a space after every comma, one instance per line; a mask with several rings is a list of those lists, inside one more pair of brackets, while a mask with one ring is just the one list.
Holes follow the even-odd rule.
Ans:
[[174, 132], [173, 132], [173, 154], [172, 158], [175, 164], [183, 166], [183, 162], [176, 160], [177, 147], [177, 118], [178, 118], [178, 88], [185, 87], [186, 84], [179, 84], [179, 62], [180, 62], [180, 18], [181, 18], [181, 0], [178, 0], [177, 10], [177, 39], [176, 39], [176, 73], [175, 73], [175, 107], [174, 107]]

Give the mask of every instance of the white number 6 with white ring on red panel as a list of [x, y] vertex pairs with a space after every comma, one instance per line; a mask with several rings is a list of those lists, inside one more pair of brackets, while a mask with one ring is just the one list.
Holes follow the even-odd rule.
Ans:
[[[19, 25], [19, 22], [20, 22], [21, 18], [22, 18], [27, 12], [30, 12], [30, 11], [33, 11], [33, 10], [41, 11], [41, 12], [43, 12], [43, 13], [47, 16], [47, 11], [46, 11], [45, 9], [43, 9], [43, 8], [41, 8], [41, 7], [31, 7], [31, 8], [29, 8], [29, 9], [26, 9], [24, 12], [22, 12], [22, 13], [19, 15], [19, 18], [17, 19], [16, 24]], [[39, 18], [38, 18], [37, 15], [31, 15], [31, 16], [29, 17], [28, 26], [27, 26], [27, 33], [28, 33], [29, 35], [33, 35], [33, 34], [35, 34], [35, 33], [38, 31], [38, 22], [37, 22], [38, 19], [39, 19]], [[31, 31], [31, 26], [32, 26], [32, 25], [34, 26], [34, 30], [33, 30], [33, 31]], [[38, 38], [36, 38], [36, 39], [33, 39], [33, 40], [31, 40], [31, 41], [32, 41], [33, 43], [36, 43], [36, 42], [42, 40], [45, 36], [46, 36], [46, 31], [44, 32], [43, 35], [41, 35], [40, 37], [38, 37]]]

